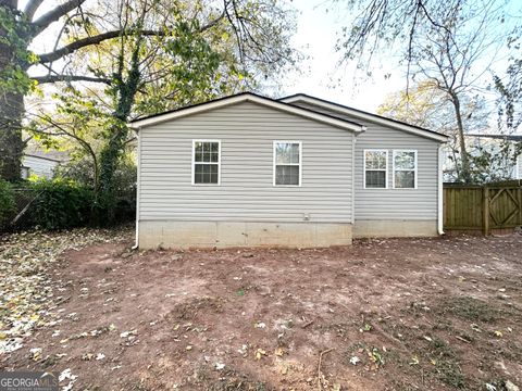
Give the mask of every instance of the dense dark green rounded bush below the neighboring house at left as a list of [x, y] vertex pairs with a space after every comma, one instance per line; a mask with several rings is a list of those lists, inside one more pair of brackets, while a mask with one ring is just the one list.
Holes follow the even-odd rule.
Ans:
[[38, 197], [30, 205], [29, 218], [45, 229], [63, 229], [90, 223], [92, 191], [73, 180], [38, 179], [29, 185]]

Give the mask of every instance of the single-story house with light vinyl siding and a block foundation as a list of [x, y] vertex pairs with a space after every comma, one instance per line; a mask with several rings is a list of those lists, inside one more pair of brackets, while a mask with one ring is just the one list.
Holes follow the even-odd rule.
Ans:
[[129, 126], [140, 248], [328, 247], [442, 232], [444, 135], [304, 94], [249, 92]]

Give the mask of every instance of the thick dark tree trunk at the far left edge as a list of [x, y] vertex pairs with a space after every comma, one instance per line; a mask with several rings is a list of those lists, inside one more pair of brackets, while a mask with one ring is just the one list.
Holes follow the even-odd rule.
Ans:
[[[0, 0], [0, 8], [15, 18], [17, 1]], [[7, 33], [0, 28], [0, 36]], [[12, 65], [14, 48], [0, 40], [0, 76]], [[24, 96], [8, 88], [0, 79], [0, 178], [15, 181], [21, 176], [21, 160], [24, 150], [22, 140], [22, 115]]]

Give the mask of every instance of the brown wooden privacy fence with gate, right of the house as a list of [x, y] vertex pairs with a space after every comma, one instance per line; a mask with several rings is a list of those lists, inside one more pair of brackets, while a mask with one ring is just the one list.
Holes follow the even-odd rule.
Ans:
[[522, 186], [444, 186], [444, 229], [509, 229], [522, 226]]

